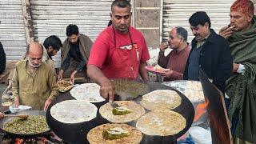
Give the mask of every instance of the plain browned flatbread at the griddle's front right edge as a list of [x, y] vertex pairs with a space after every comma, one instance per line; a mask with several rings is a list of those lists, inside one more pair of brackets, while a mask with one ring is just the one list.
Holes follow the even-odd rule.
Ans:
[[154, 110], [139, 118], [136, 127], [147, 135], [168, 136], [183, 130], [186, 119], [171, 110]]

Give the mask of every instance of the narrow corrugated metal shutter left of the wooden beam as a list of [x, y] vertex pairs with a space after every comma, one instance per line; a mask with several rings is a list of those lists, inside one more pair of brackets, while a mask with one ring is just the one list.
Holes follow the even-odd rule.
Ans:
[[22, 18], [22, 2], [8, 0], [0, 2], [0, 42], [6, 59], [19, 60], [26, 52], [26, 34]]

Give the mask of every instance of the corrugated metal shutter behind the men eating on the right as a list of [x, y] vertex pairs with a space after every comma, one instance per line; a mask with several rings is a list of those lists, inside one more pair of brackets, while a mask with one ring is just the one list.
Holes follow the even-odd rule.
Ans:
[[216, 33], [230, 22], [230, 6], [234, 0], [163, 0], [163, 41], [167, 40], [170, 29], [182, 26], [189, 33], [188, 42], [194, 38], [188, 22], [196, 11], [206, 11], [211, 28]]

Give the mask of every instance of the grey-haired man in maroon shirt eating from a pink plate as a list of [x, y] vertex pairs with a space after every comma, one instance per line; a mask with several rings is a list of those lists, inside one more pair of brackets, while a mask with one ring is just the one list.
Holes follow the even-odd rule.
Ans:
[[164, 52], [168, 45], [162, 43], [158, 55], [158, 65], [166, 70], [162, 77], [164, 81], [174, 81], [183, 78], [183, 71], [186, 66], [186, 60], [190, 54], [190, 46], [187, 41], [187, 31], [183, 27], [177, 26], [170, 30], [168, 45], [172, 51], [165, 56]]

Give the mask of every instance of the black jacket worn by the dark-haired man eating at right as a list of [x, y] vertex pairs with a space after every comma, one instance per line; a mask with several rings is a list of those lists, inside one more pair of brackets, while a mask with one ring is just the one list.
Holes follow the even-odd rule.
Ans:
[[[194, 38], [191, 42], [191, 52], [196, 48], [197, 41]], [[183, 79], [188, 79], [189, 58], [186, 62]], [[233, 59], [230, 53], [230, 47], [225, 38], [210, 30], [210, 35], [202, 45], [199, 56], [199, 67], [207, 74], [208, 78], [213, 79], [213, 84], [218, 90], [225, 92], [226, 80], [230, 77], [233, 70]]]

